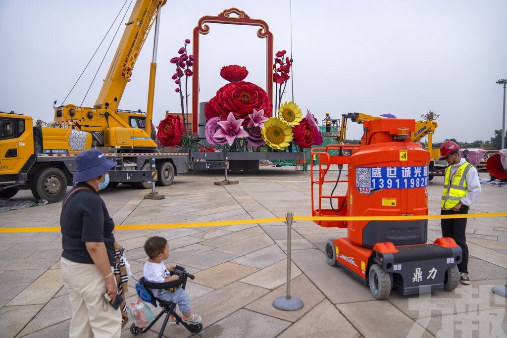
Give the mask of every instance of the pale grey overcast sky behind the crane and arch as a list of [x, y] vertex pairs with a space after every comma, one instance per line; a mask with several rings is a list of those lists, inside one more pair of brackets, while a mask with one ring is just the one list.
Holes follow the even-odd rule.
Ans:
[[[1, 0], [0, 111], [52, 121], [53, 100], [62, 103], [123, 4], [124, 0]], [[185, 39], [192, 39], [200, 17], [237, 7], [268, 23], [275, 52], [292, 50], [294, 100], [319, 120], [325, 111], [336, 119], [357, 111], [417, 120], [431, 109], [441, 114], [435, 141], [488, 140], [493, 130], [501, 129], [502, 87], [495, 81], [507, 71], [506, 1], [293, 0], [292, 49], [289, 4], [289, 0], [168, 0], [161, 12], [155, 125], [166, 110], [180, 111], [169, 59]], [[95, 103], [132, 7], [85, 106]], [[200, 38], [199, 101], [208, 101], [226, 83], [220, 68], [228, 64], [246, 66], [250, 74], [245, 81], [265, 88], [266, 44], [257, 37], [258, 28], [219, 24], [210, 28]], [[146, 111], [152, 35], [153, 30], [127, 84], [122, 109]], [[81, 104], [111, 37], [65, 103]], [[288, 90], [283, 101], [291, 99]], [[349, 124], [348, 138], [361, 134], [359, 125]]]

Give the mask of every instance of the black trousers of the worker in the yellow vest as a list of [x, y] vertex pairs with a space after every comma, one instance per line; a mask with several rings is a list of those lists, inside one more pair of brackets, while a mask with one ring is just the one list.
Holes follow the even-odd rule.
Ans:
[[[467, 214], [468, 207], [462, 205], [458, 211], [454, 210], [442, 210], [441, 215], [456, 215], [456, 214]], [[451, 237], [457, 245], [463, 251], [463, 257], [461, 263], [458, 264], [459, 272], [468, 273], [468, 247], [466, 246], [466, 218], [453, 218], [453, 219], [442, 219], [442, 237]]]

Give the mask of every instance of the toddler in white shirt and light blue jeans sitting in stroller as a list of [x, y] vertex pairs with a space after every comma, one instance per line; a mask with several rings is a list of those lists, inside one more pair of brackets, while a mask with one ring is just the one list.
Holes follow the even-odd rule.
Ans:
[[[144, 243], [144, 251], [149, 259], [144, 264], [144, 279], [153, 283], [166, 283], [178, 280], [178, 275], [170, 276], [174, 265], [164, 265], [162, 260], [169, 258], [169, 243], [163, 237], [153, 236]], [[179, 311], [183, 313], [183, 320], [189, 324], [199, 324], [201, 316], [190, 312], [190, 299], [187, 292], [181, 287], [170, 289], [150, 289], [153, 295], [163, 301], [176, 303]]]

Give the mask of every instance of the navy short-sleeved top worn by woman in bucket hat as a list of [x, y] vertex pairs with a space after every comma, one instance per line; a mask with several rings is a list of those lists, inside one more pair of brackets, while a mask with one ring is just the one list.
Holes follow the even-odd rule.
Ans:
[[62, 257], [77, 263], [93, 264], [85, 242], [104, 242], [107, 257], [113, 266], [115, 223], [95, 189], [84, 182], [76, 185], [82, 186], [88, 189], [81, 189], [70, 196], [60, 214]]

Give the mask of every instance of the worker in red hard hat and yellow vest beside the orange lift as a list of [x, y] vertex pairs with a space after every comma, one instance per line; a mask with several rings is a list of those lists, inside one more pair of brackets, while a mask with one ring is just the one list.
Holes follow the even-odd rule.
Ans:
[[[481, 183], [477, 169], [459, 157], [459, 145], [445, 141], [440, 146], [440, 159], [449, 165], [445, 169], [444, 192], [442, 193], [441, 215], [467, 214], [470, 206], [481, 195]], [[466, 218], [442, 219], [442, 237], [451, 237], [463, 251], [458, 264], [461, 284], [470, 284], [468, 278], [468, 247], [465, 238]]]

